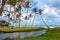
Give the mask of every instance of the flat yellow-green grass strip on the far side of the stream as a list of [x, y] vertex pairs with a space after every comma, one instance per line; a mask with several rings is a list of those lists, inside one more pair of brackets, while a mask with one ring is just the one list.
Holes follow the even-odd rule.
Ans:
[[43, 30], [42, 27], [0, 27], [0, 33], [11, 33], [11, 32], [29, 32]]

